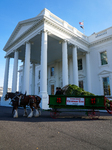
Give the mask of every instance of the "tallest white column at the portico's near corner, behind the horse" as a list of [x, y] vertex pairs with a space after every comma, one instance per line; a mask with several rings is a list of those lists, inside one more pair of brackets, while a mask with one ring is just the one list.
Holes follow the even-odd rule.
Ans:
[[41, 75], [40, 75], [40, 95], [42, 98], [42, 109], [48, 109], [47, 94], [47, 32], [41, 34]]

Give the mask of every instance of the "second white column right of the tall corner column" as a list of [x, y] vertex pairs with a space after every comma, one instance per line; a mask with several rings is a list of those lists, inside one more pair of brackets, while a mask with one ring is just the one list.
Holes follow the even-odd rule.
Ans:
[[77, 47], [73, 46], [73, 84], [78, 86]]

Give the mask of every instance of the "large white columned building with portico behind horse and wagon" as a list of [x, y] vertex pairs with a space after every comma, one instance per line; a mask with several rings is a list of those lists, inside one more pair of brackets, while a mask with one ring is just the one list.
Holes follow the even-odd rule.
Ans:
[[[66, 21], [44, 9], [35, 18], [21, 21], [4, 47], [6, 68], [3, 96], [7, 92], [9, 60], [14, 58], [12, 92], [17, 89], [42, 97], [57, 86], [78, 85], [96, 95], [112, 95], [112, 27], [86, 36]], [[2, 99], [2, 105], [6, 102]]]

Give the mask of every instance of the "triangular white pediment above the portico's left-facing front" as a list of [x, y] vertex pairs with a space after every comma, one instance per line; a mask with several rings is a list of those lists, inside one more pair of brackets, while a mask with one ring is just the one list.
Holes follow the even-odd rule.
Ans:
[[33, 28], [33, 26], [39, 22], [39, 20], [42, 18], [42, 16], [35, 17], [32, 19], [28, 19], [25, 21], [21, 21], [17, 24], [15, 30], [13, 31], [12, 35], [10, 36], [8, 42], [6, 43], [4, 50], [11, 45], [14, 41], [16, 41], [18, 38], [20, 38], [22, 35], [24, 35], [28, 30]]

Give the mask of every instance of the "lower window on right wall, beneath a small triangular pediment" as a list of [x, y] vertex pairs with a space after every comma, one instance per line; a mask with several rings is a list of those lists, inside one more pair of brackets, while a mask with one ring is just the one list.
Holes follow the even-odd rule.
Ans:
[[103, 91], [104, 91], [104, 95], [110, 95], [109, 77], [103, 78]]

